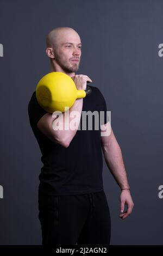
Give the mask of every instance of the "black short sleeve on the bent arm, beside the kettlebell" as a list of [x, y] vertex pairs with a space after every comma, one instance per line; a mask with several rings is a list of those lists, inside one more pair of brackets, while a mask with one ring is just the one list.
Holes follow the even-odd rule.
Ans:
[[45, 109], [43, 109], [37, 102], [36, 95], [34, 92], [28, 104], [28, 115], [29, 115], [29, 120], [32, 127], [37, 127], [36, 125], [38, 121], [46, 113], [48, 112], [45, 111]]

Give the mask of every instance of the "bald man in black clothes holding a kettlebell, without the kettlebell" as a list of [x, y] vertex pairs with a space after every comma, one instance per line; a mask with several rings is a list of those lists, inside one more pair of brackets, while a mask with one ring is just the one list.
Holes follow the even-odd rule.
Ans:
[[[78, 90], [85, 90], [92, 82], [87, 75], [76, 75], [82, 54], [82, 43], [74, 29], [59, 27], [47, 35], [46, 53], [51, 61], [51, 72], [60, 71], [70, 76]], [[42, 245], [109, 245], [110, 212], [103, 190], [102, 152], [112, 175], [121, 188], [122, 219], [131, 214], [126, 170], [118, 145], [106, 115], [106, 103], [97, 87], [90, 86], [91, 94], [77, 99], [62, 115], [47, 113], [36, 100], [35, 92], [28, 105], [30, 125], [39, 143], [43, 167], [39, 175], [39, 219]], [[76, 129], [63, 127], [76, 117]], [[84, 111], [104, 112], [98, 130], [78, 129]], [[95, 123], [93, 123], [95, 124]], [[102, 136], [102, 131], [110, 134]], [[128, 205], [126, 212], [124, 204]]]

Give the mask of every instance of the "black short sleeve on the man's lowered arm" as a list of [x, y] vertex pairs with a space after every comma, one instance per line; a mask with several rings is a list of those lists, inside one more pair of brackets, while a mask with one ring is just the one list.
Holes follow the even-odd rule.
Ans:
[[99, 92], [100, 97], [101, 97], [101, 109], [100, 109], [100, 111], [102, 112], [100, 114], [100, 124], [103, 125], [103, 124], [108, 123], [109, 114], [108, 114], [108, 111], [107, 111], [107, 106], [106, 106], [106, 101], [104, 99], [104, 96], [103, 96], [102, 92], [99, 89], [98, 89], [98, 92]]

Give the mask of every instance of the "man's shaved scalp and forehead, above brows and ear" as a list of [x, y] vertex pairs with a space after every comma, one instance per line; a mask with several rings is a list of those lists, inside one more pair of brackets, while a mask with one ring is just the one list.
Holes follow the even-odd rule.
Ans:
[[46, 47], [57, 48], [58, 45], [61, 45], [71, 38], [76, 38], [80, 40], [78, 33], [70, 27], [58, 27], [52, 29], [46, 36]]

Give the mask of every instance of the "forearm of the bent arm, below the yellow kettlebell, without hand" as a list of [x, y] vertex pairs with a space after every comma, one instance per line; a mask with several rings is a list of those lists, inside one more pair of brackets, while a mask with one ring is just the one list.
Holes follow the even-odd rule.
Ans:
[[[82, 108], [83, 99], [77, 99], [68, 111], [59, 115], [59, 117], [52, 122], [54, 138], [57, 139], [58, 142], [69, 144], [72, 141], [78, 130]], [[77, 115], [74, 115], [72, 113], [73, 111], [76, 111]], [[72, 123], [71, 121], [74, 118], [75, 122]], [[57, 129], [57, 127], [59, 128]]]

